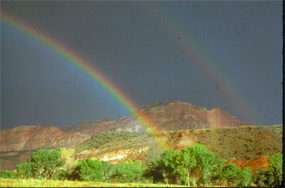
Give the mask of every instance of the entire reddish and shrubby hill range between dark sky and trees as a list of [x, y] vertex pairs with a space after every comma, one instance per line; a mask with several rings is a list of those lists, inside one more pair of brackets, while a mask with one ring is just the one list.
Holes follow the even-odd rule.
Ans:
[[62, 129], [41, 125], [3, 129], [0, 169], [15, 169], [37, 149], [63, 147], [75, 148], [75, 159], [91, 157], [113, 163], [128, 159], [147, 162], [159, 156], [163, 144], [180, 149], [201, 143], [224, 159], [238, 160], [282, 150], [282, 125], [245, 126], [219, 108], [168, 101], [147, 105], [136, 113], [153, 125], [147, 128], [151, 133], [131, 115], [84, 121]]

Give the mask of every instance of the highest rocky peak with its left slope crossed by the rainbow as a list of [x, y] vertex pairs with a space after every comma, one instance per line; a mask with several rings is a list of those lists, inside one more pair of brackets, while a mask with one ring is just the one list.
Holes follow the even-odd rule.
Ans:
[[[137, 110], [136, 113], [147, 120], [147, 123], [154, 125], [151, 129], [156, 131], [246, 125], [220, 108], [207, 109], [176, 100], [153, 103]], [[66, 126], [62, 130], [82, 131], [87, 128], [96, 129], [97, 132], [145, 132], [145, 127], [131, 115], [120, 118], [106, 117], [99, 121], [85, 121], [74, 126]]]

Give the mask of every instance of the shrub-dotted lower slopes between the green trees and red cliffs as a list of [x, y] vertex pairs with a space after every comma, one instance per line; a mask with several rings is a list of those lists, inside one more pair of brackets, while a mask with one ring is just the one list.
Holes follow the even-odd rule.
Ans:
[[[102, 132], [77, 145], [74, 160], [90, 157], [118, 163], [140, 159], [147, 163], [162, 153], [163, 149], [157, 144], [160, 140], [173, 149], [201, 143], [225, 160], [244, 161], [281, 152], [282, 135], [282, 125], [158, 131], [154, 133], [156, 139], [148, 133]], [[25, 161], [30, 153], [1, 152], [1, 169], [15, 169], [15, 165]]]

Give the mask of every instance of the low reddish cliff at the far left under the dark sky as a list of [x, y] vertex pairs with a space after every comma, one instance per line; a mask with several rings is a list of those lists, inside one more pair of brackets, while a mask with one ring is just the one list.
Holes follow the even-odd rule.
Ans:
[[73, 147], [90, 135], [66, 133], [58, 127], [18, 126], [1, 130], [1, 151], [21, 151], [41, 148]]

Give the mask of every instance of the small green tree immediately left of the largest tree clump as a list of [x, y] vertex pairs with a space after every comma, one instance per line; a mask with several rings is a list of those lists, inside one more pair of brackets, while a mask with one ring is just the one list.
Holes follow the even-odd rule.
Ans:
[[117, 164], [114, 178], [119, 182], [137, 182], [141, 180], [142, 175], [142, 162], [130, 160]]

